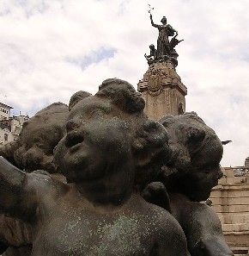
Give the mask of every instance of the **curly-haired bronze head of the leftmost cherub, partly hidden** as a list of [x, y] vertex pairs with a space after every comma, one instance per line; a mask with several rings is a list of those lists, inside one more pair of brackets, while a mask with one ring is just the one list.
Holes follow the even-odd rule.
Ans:
[[[21, 134], [13, 146], [14, 165], [27, 172], [37, 169], [56, 172], [53, 150], [63, 137], [68, 115], [66, 104], [52, 103], [24, 122]], [[46, 142], [48, 138], [51, 144]]]

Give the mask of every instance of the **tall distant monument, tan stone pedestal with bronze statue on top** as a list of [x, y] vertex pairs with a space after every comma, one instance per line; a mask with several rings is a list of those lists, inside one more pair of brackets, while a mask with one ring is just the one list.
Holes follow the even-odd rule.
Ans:
[[[161, 25], [153, 22], [151, 14], [150, 21], [159, 30], [157, 48], [150, 45], [149, 55], [144, 55], [149, 69], [137, 84], [137, 90], [146, 102], [145, 113], [149, 118], [159, 120], [167, 114], [182, 115], [185, 112], [187, 89], [175, 70], [178, 53], [174, 47], [182, 41], [177, 39], [178, 32], [167, 24], [165, 16], [161, 19]], [[169, 37], [172, 37], [170, 41]]]

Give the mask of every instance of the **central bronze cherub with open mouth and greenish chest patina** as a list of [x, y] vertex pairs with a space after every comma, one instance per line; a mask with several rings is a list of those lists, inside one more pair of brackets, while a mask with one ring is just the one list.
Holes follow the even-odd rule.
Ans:
[[188, 255], [178, 222], [137, 192], [168, 150], [143, 108], [119, 79], [76, 103], [55, 151], [68, 184], [0, 158], [0, 208], [31, 225], [31, 255]]

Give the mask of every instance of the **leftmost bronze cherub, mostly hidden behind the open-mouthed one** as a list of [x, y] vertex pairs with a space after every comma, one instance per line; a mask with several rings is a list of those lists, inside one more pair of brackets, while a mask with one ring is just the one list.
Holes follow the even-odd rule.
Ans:
[[[75, 100], [72, 98], [71, 102]], [[63, 137], [68, 116], [69, 107], [64, 103], [52, 103], [39, 110], [24, 123], [17, 140], [0, 147], [0, 155], [25, 172], [38, 169], [56, 172], [53, 150]], [[54, 175], [62, 178], [61, 175]], [[31, 233], [29, 225], [7, 215], [0, 215], [0, 253], [7, 250], [4, 256], [30, 255]]]

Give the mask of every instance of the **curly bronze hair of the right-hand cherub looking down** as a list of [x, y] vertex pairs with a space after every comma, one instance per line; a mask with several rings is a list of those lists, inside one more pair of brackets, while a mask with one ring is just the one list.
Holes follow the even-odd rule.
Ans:
[[[167, 129], [171, 159], [166, 172], [178, 172], [179, 175], [191, 170], [191, 163], [204, 147], [209, 147], [210, 140], [222, 145], [215, 131], [208, 127], [195, 112], [180, 116], [163, 116], [159, 121]], [[221, 146], [222, 147], [222, 146]]]

